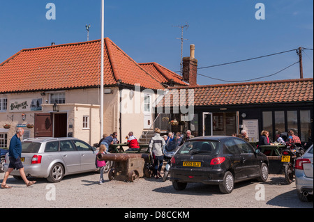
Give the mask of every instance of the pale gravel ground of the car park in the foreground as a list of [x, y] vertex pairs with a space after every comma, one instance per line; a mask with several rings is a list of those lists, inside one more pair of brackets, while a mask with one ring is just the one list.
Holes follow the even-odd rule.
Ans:
[[[36, 179], [32, 187], [23, 181], [9, 177], [12, 189], [0, 189], [4, 208], [313, 208], [313, 201], [302, 203], [297, 198], [294, 182], [285, 184], [284, 175], [269, 175], [263, 190], [259, 182], [248, 181], [235, 184], [230, 194], [221, 194], [217, 186], [188, 184], [184, 191], [176, 191], [172, 182], [153, 178], [140, 178], [137, 182], [108, 180], [98, 184], [99, 174], [83, 173], [68, 175], [59, 183]], [[3, 173], [0, 173], [0, 181]], [[257, 196], [257, 199], [255, 198]]]

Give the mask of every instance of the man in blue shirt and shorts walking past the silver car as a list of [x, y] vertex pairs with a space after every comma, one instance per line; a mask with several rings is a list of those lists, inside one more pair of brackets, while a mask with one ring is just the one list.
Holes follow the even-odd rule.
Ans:
[[20, 171], [20, 175], [22, 179], [24, 180], [25, 184], [27, 184], [27, 187], [36, 183], [36, 181], [27, 180], [27, 177], [24, 172], [24, 166], [21, 161], [21, 155], [22, 155], [21, 137], [23, 136], [23, 134], [24, 134], [24, 129], [18, 128], [16, 130], [16, 134], [10, 140], [10, 148], [9, 148], [10, 164], [8, 166], [8, 171], [6, 171], [6, 173], [4, 174], [4, 178], [1, 183], [2, 189], [11, 188], [10, 186], [6, 184], [6, 180], [8, 180], [8, 176], [15, 168]]

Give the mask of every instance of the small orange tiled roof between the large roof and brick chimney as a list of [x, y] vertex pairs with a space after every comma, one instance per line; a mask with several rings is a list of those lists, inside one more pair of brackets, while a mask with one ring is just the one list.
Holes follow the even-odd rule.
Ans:
[[179, 74], [168, 70], [158, 63], [139, 63], [139, 65], [147, 70], [147, 72], [153, 74], [154, 77], [163, 84], [168, 84], [173, 81], [174, 84], [188, 86], [186, 82], [182, 81], [183, 78]]

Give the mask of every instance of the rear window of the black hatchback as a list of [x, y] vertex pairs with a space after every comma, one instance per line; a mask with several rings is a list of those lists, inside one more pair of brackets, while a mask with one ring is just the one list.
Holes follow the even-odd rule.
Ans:
[[220, 143], [218, 141], [186, 141], [184, 145], [178, 150], [178, 154], [218, 154]]

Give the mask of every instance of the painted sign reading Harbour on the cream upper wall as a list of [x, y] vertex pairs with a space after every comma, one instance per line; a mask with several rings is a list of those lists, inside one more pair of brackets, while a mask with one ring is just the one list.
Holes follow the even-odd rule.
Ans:
[[42, 103], [43, 98], [10, 100], [10, 104], [8, 104], [8, 111], [10, 112], [42, 111], [43, 109], [41, 106]]

